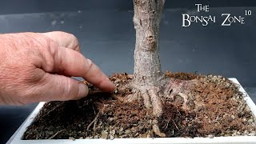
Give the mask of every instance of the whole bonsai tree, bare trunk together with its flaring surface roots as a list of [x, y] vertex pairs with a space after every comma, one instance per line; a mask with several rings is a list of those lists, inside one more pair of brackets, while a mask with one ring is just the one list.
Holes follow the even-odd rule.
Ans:
[[[158, 128], [158, 118], [162, 115], [162, 103], [166, 99], [182, 99], [182, 107], [192, 103], [189, 95], [191, 81], [166, 77], [162, 73], [159, 58], [159, 24], [165, 0], [134, 0], [134, 28], [136, 46], [134, 51], [134, 82], [130, 83], [133, 94], [126, 102], [142, 98], [146, 108], [153, 110], [152, 130], [160, 137], [166, 135]], [[178, 98], [176, 98], [178, 97]]]

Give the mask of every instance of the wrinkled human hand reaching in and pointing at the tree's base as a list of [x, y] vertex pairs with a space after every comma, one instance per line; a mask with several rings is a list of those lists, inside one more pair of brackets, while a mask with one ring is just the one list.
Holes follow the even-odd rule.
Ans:
[[85, 97], [88, 87], [70, 76], [82, 77], [103, 91], [115, 89], [98, 66], [80, 54], [73, 34], [0, 34], [0, 104]]

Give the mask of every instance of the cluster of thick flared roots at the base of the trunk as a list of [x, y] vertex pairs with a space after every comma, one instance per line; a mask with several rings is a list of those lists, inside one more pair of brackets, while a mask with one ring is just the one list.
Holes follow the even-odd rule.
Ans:
[[[166, 82], [168, 80], [168, 82]], [[194, 98], [190, 98], [190, 87], [197, 82], [195, 80], [181, 80], [166, 78], [159, 86], [134, 86], [135, 92], [126, 98], [117, 98], [122, 102], [134, 102], [142, 98], [147, 109], [152, 109], [157, 118], [162, 114], [162, 102], [170, 100], [182, 104], [182, 109], [190, 110], [194, 107]], [[167, 83], [167, 84], [166, 84]], [[132, 86], [132, 85], [131, 85]]]

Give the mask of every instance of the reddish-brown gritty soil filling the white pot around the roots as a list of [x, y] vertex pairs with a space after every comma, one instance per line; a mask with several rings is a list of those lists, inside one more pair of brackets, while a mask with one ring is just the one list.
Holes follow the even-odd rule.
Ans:
[[123, 102], [133, 90], [127, 84], [133, 75], [114, 74], [118, 90], [103, 93], [94, 86], [78, 101], [47, 102], [23, 139], [152, 138], [152, 123], [158, 121], [166, 137], [218, 137], [256, 135], [256, 120], [238, 86], [226, 78], [166, 72], [166, 77], [197, 80], [190, 88], [194, 106], [182, 108], [182, 99], [166, 99], [159, 118], [152, 116], [142, 100]]

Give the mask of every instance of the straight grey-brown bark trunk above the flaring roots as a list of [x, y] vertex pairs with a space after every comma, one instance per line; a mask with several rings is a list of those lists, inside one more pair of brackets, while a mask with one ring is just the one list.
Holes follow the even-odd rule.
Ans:
[[164, 0], [134, 0], [134, 77], [137, 85], [157, 85], [162, 76], [158, 39], [163, 5]]

